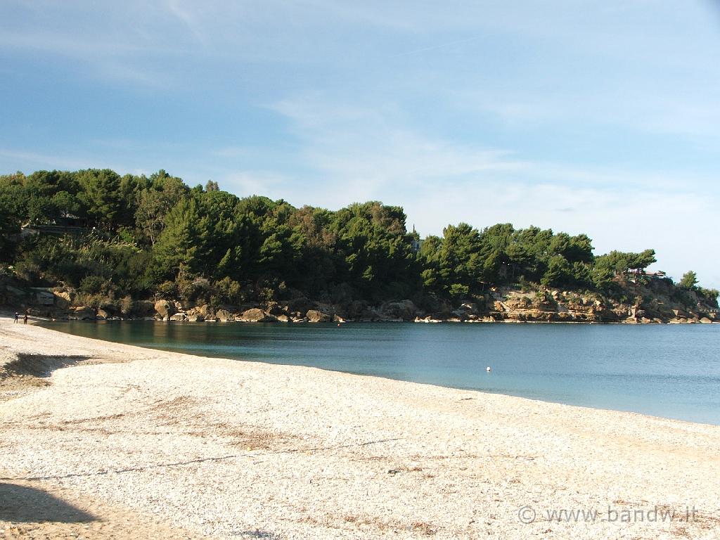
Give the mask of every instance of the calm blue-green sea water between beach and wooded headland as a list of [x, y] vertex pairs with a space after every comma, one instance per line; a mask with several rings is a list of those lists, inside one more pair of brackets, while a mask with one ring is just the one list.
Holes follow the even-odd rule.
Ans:
[[133, 321], [46, 326], [202, 356], [315, 366], [720, 424], [720, 325]]

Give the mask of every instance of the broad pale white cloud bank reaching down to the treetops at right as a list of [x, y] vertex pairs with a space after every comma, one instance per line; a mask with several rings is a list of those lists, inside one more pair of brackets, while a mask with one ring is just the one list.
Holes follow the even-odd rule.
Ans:
[[307, 98], [274, 109], [302, 140], [304, 165], [323, 179], [312, 199], [302, 186], [279, 179], [278, 192], [292, 194], [295, 204], [338, 208], [381, 199], [404, 206], [408, 225], [422, 234], [439, 234], [460, 221], [588, 233], [598, 252], [655, 248], [672, 275], [693, 264], [706, 284], [720, 284], [716, 264], [703, 256], [714, 242], [712, 229], [688, 233], [681, 225], [711, 224], [720, 197], [698, 193], [684, 171], [523, 159], [508, 150], [430, 138], [397, 125], [392, 114]]

